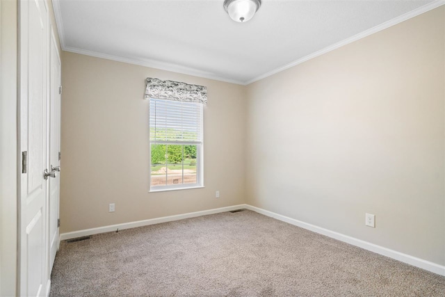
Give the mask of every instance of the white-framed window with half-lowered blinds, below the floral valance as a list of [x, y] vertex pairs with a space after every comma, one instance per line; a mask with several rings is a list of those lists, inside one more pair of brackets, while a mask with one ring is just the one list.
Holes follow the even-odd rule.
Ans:
[[149, 100], [150, 191], [202, 186], [203, 105]]

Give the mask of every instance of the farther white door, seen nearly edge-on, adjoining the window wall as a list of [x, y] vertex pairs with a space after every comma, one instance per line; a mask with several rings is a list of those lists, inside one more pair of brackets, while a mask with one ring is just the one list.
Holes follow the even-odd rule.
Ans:
[[[52, 31], [51, 31], [52, 33]], [[49, 51], [49, 168], [60, 171], [60, 57], [54, 33]], [[60, 176], [49, 179], [49, 272], [58, 250], [58, 205]]]

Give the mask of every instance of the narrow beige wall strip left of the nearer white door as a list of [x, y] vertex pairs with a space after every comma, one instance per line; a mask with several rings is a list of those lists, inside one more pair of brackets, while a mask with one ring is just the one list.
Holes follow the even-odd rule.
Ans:
[[17, 273], [17, 1], [0, 3], [0, 296]]

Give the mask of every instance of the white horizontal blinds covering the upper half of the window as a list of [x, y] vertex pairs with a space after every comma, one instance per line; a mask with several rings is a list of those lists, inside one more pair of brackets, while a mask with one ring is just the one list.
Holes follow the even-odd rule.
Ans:
[[150, 143], [202, 143], [202, 104], [150, 99]]

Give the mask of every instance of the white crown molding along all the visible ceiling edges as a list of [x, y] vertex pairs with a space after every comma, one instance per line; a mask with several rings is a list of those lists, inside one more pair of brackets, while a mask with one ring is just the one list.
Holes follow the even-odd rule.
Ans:
[[362, 38], [365, 38], [369, 35], [372, 35], [374, 33], [377, 33], [379, 31], [385, 30], [391, 26], [394, 26], [396, 24], [399, 24], [401, 22], [406, 21], [407, 19], [411, 19], [412, 17], [416, 17], [417, 15], [421, 15], [422, 13], [426, 13], [432, 9], [435, 9], [439, 6], [443, 6], [445, 4], [445, 0], [435, 0], [432, 1], [431, 3], [426, 4], [425, 6], [421, 6], [419, 8], [416, 8], [415, 10], [410, 11], [409, 13], [405, 13], [404, 15], [401, 15], [399, 17], [396, 17], [394, 19], [391, 19], [387, 22], [384, 22], [378, 26], [375, 26], [371, 29], [368, 29], [366, 31], [363, 31], [362, 33], [358, 33], [350, 38], [346, 38], [345, 40], [342, 40], [340, 42], [335, 43], [334, 45], [330, 45], [329, 47], [325, 47], [324, 49], [321, 49], [319, 51], [315, 51], [312, 54], [309, 54], [305, 57], [299, 58], [296, 61], [293, 61], [289, 64], [286, 64], [282, 67], [278, 67], [275, 70], [271, 70], [269, 72], [266, 72], [264, 74], [259, 75], [258, 77], [254, 77], [254, 79], [250, 79], [248, 81], [239, 81], [236, 79], [229, 79], [227, 77], [220, 77], [216, 74], [212, 74], [209, 72], [204, 72], [202, 70], [197, 70], [191, 67], [184, 67], [181, 65], [175, 65], [172, 63], [165, 63], [165, 62], [160, 62], [160, 61], [154, 61], [154, 60], [140, 60], [140, 59], [136, 59], [136, 58], [124, 58], [124, 57], [120, 57], [120, 56], [113, 56], [113, 55], [108, 55], [108, 54], [102, 54], [96, 51], [88, 51], [86, 49], [78, 49], [75, 47], [67, 47], [65, 44], [65, 30], [63, 29], [63, 21], [62, 21], [62, 14], [60, 12], [60, 0], [52, 0], [53, 2], [53, 7], [54, 7], [54, 15], [56, 17], [56, 24], [57, 24], [57, 29], [58, 29], [58, 33], [59, 33], [59, 38], [60, 38], [60, 46], [62, 47], [63, 51], [70, 51], [72, 53], [76, 53], [76, 54], [83, 54], [86, 56], [94, 56], [96, 58], [104, 58], [107, 60], [113, 60], [113, 61], [118, 61], [118, 62], [122, 62], [122, 63], [129, 63], [129, 64], [133, 64], [133, 65], [140, 65], [140, 66], [144, 66], [144, 67], [152, 67], [152, 68], [156, 68], [159, 70], [165, 70], [165, 71], [170, 71], [170, 72], [177, 72], [177, 73], [181, 73], [181, 74], [187, 74], [187, 75], [192, 75], [195, 77], [202, 77], [204, 79], [213, 79], [216, 81], [225, 81], [227, 83], [235, 83], [238, 85], [242, 85], [242, 86], [247, 86], [250, 83], [254, 83], [255, 81], [259, 81], [261, 79], [265, 79], [266, 77], [270, 77], [273, 74], [277, 74], [278, 72], [282, 72], [284, 70], [287, 70], [293, 66], [296, 66], [298, 64], [304, 63], [306, 61], [311, 60], [312, 58], [316, 58], [318, 56], [321, 56], [323, 54], [328, 53], [329, 51], [333, 51], [334, 49], [338, 49], [339, 47], [343, 47], [344, 45], [348, 45], [351, 42], [355, 42], [357, 40], [360, 40]]

